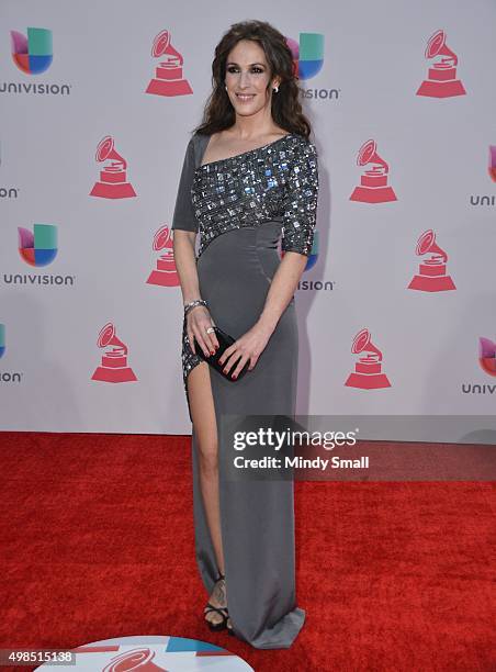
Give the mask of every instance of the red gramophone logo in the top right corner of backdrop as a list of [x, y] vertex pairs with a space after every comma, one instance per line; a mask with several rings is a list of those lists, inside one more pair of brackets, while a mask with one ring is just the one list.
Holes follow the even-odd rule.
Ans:
[[436, 31], [427, 43], [426, 58], [431, 60], [437, 56], [439, 58], [429, 67], [427, 79], [418, 88], [417, 96], [429, 98], [465, 96], [462, 82], [456, 79], [458, 56], [447, 46], [444, 31]]

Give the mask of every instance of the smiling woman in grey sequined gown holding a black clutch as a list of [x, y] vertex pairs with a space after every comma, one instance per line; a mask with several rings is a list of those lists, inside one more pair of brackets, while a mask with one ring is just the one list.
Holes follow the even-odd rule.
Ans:
[[[223, 479], [223, 414], [295, 413], [294, 291], [312, 250], [318, 169], [293, 59], [270, 24], [235, 24], [215, 49], [213, 92], [187, 148], [173, 214], [185, 305], [182, 362], [193, 425], [196, 560], [204, 618], [262, 649], [303, 626], [294, 580], [292, 481]], [[200, 248], [195, 257], [195, 237]], [[277, 250], [282, 237], [282, 259]], [[213, 325], [236, 343], [221, 363]], [[230, 447], [232, 450], [232, 447]]]

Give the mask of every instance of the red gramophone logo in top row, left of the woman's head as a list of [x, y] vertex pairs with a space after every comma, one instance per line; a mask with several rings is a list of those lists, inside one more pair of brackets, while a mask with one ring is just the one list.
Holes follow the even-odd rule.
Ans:
[[169, 31], [161, 31], [154, 40], [151, 56], [160, 58], [155, 69], [155, 78], [150, 80], [146, 93], [155, 96], [188, 96], [193, 92], [187, 79], [182, 76], [183, 58], [170, 44]]

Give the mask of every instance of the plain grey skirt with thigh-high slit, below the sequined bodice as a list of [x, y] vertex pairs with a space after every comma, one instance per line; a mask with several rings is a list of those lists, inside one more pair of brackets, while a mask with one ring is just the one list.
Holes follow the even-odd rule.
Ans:
[[[280, 235], [279, 221], [228, 231], [212, 240], [198, 259], [201, 295], [208, 302], [214, 323], [235, 338], [253, 326], [263, 310], [280, 264], [277, 251]], [[293, 417], [297, 354], [293, 296], [252, 371], [229, 382], [208, 367], [218, 429], [228, 609], [235, 634], [260, 649], [289, 648], [305, 620], [295, 594], [293, 482], [227, 479], [233, 446], [223, 436], [222, 417], [223, 414]], [[195, 549], [210, 594], [217, 567], [200, 490], [198, 449], [193, 424]]]

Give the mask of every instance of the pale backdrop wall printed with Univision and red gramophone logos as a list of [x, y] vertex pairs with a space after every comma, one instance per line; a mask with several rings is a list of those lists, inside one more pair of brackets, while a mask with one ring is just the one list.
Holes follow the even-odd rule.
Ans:
[[170, 225], [245, 19], [286, 36], [319, 155], [297, 413], [494, 415], [494, 0], [3, 0], [1, 429], [191, 430]]

